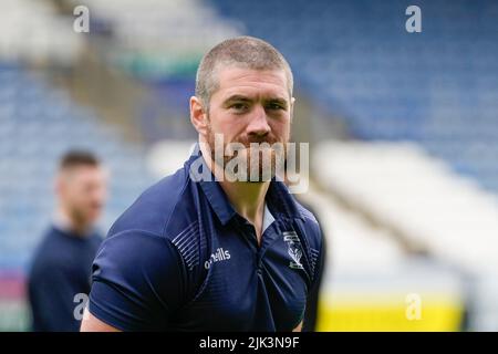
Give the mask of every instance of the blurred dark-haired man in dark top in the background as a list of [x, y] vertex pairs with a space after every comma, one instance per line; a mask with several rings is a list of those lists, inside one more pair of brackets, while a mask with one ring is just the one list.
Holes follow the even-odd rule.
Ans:
[[29, 273], [33, 331], [77, 331], [76, 294], [89, 294], [91, 267], [102, 241], [94, 229], [106, 197], [106, 176], [89, 152], [69, 152], [55, 180], [58, 209]]

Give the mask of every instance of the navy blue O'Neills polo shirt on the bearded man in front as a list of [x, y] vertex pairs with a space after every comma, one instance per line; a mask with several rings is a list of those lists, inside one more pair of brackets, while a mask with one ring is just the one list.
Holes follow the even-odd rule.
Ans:
[[198, 162], [208, 168], [194, 154], [113, 225], [93, 263], [90, 312], [123, 331], [291, 331], [321, 271], [315, 218], [273, 180], [258, 244], [212, 175], [191, 178]]

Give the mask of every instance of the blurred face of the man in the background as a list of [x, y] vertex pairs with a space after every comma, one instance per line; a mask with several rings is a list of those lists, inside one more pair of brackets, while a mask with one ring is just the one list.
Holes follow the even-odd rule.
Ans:
[[106, 194], [106, 176], [101, 167], [75, 166], [60, 175], [61, 205], [80, 226], [91, 226], [98, 219]]

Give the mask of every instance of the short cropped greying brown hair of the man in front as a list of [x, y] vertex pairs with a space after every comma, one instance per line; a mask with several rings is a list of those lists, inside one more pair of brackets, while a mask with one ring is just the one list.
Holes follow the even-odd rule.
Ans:
[[217, 66], [238, 65], [251, 70], [283, 70], [289, 95], [292, 96], [293, 76], [289, 63], [270, 43], [253, 37], [236, 37], [215, 45], [200, 61], [196, 76], [196, 96], [209, 110], [209, 101], [217, 90]]

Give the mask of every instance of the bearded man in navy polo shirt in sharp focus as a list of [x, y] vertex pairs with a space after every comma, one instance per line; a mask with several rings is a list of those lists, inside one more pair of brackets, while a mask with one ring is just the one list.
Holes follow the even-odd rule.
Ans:
[[198, 148], [110, 230], [82, 331], [301, 330], [323, 247], [276, 176], [292, 86], [286, 59], [256, 38], [203, 58], [190, 98]]

